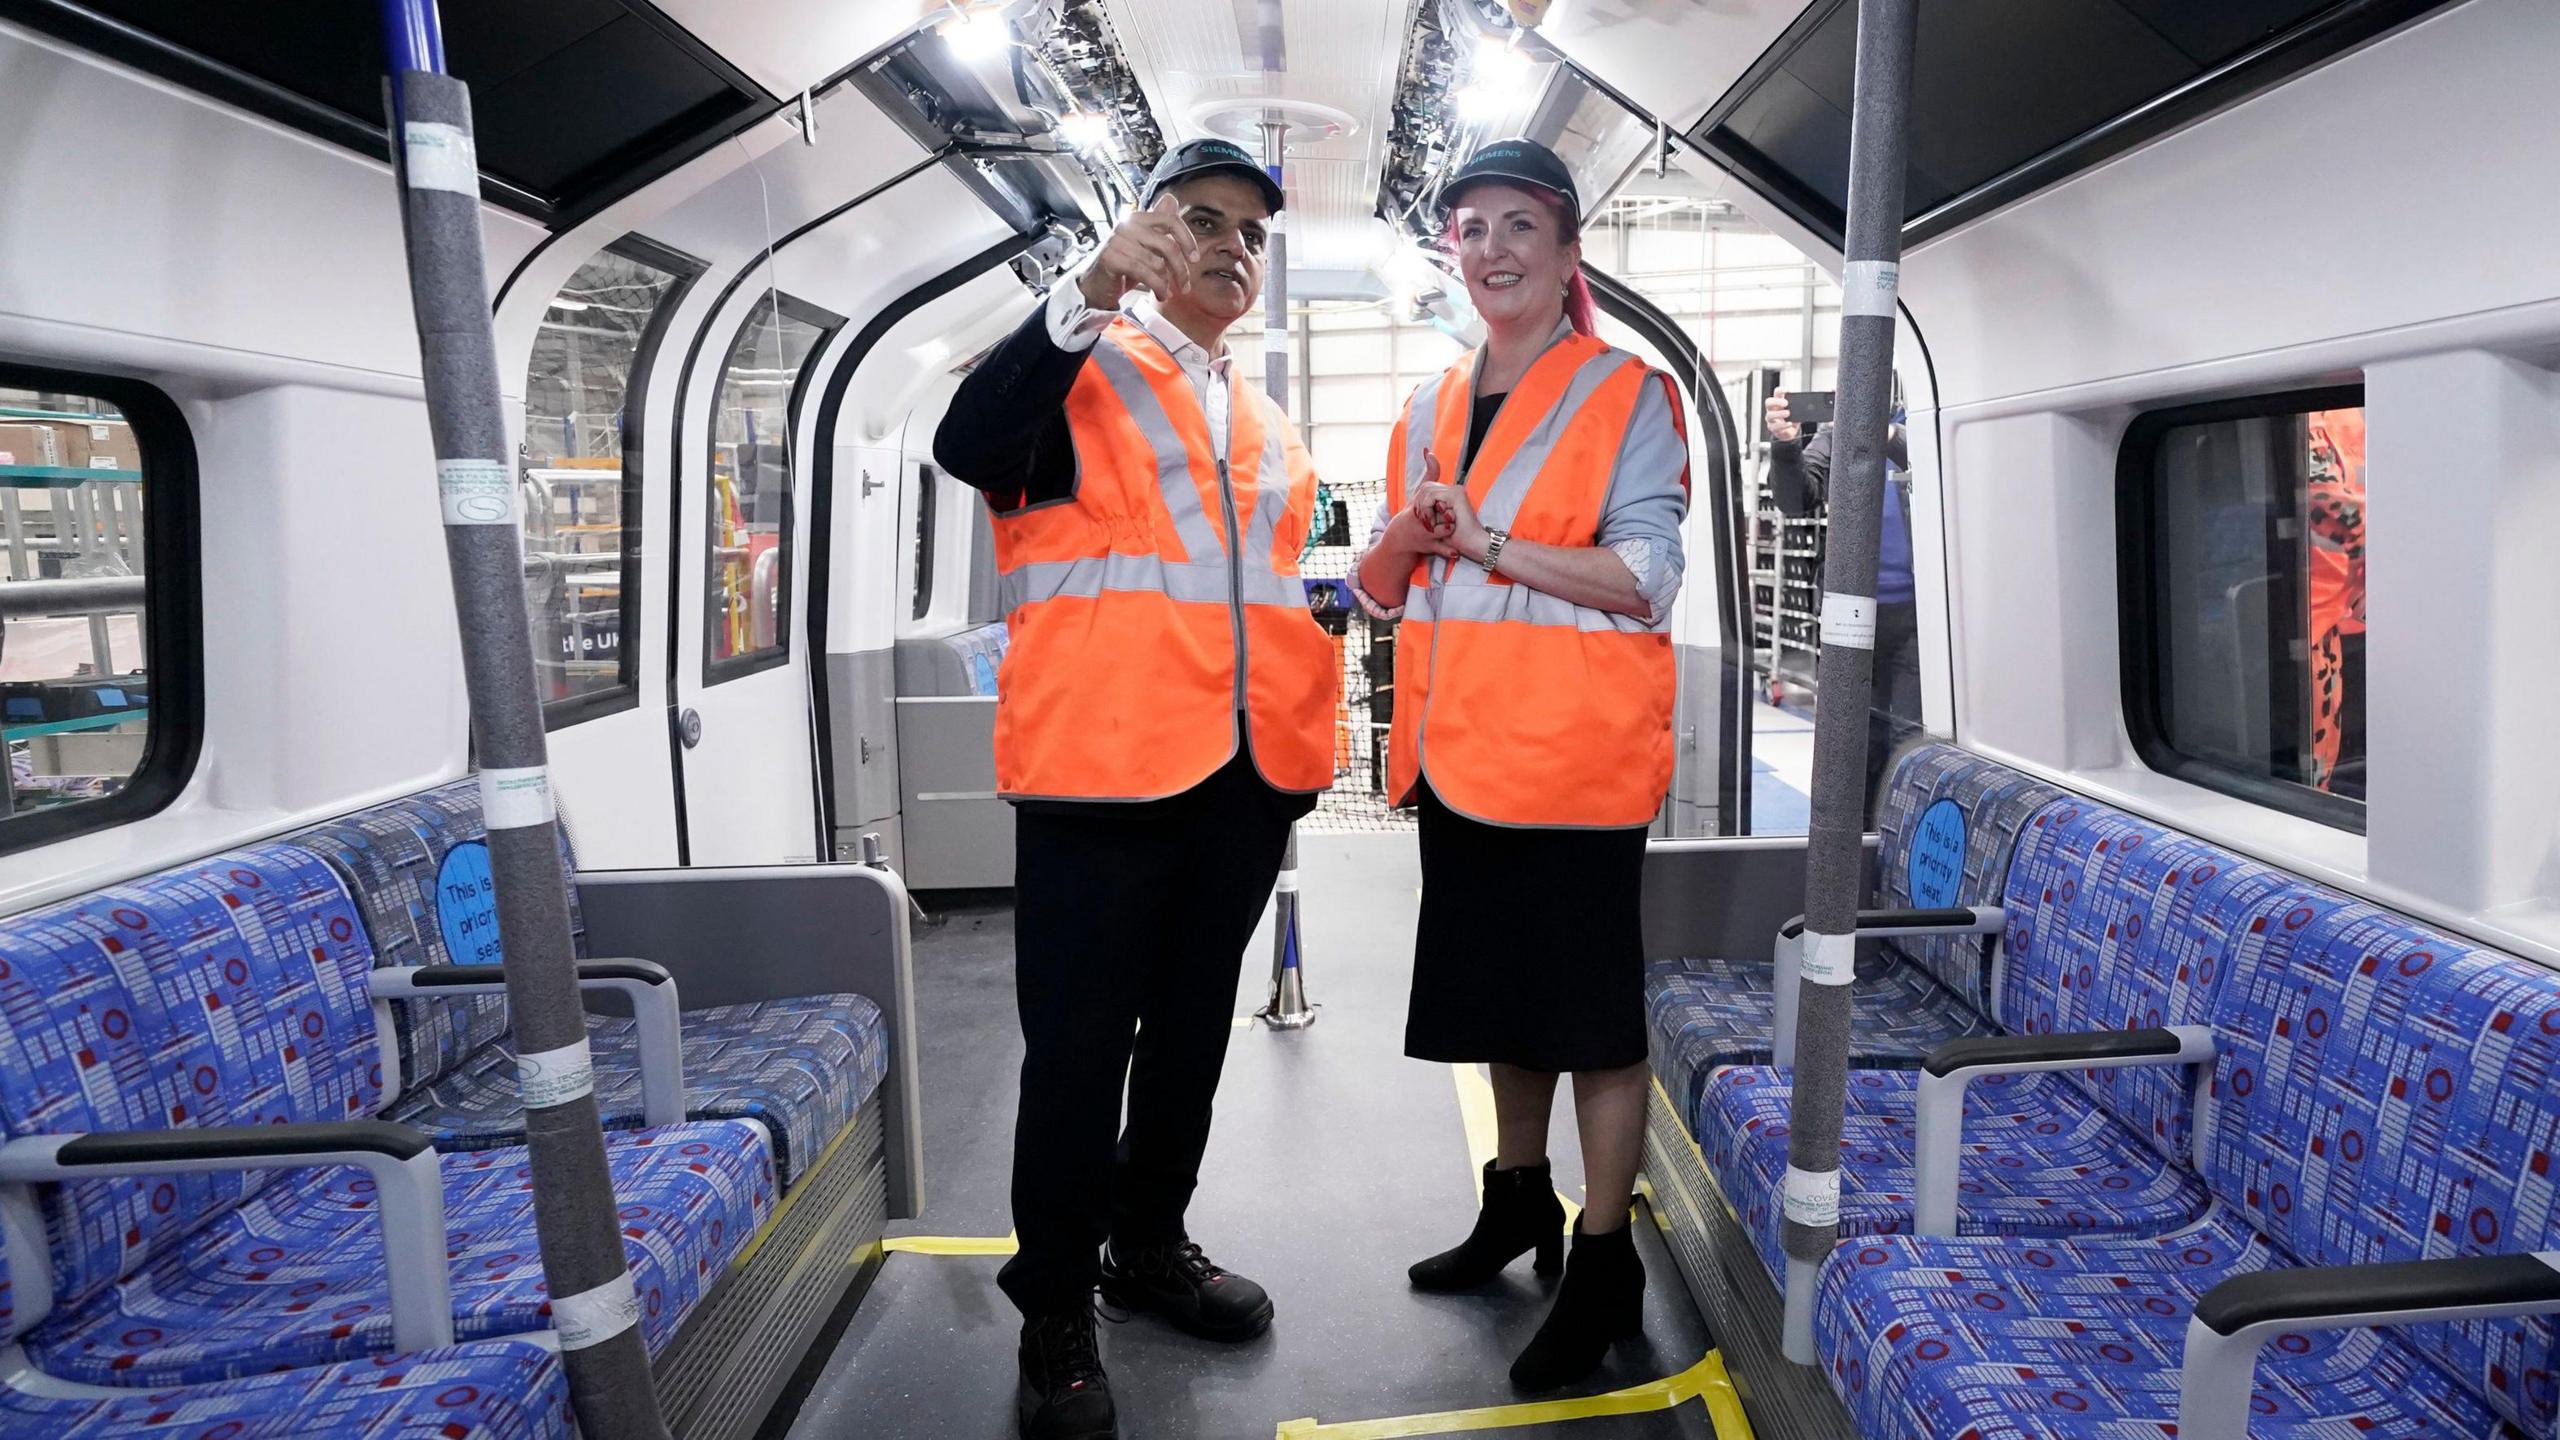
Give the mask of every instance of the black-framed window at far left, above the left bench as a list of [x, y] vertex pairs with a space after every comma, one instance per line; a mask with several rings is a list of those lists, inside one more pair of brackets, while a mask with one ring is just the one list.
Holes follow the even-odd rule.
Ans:
[[0, 851], [148, 815], [195, 764], [195, 448], [159, 389], [0, 366]]

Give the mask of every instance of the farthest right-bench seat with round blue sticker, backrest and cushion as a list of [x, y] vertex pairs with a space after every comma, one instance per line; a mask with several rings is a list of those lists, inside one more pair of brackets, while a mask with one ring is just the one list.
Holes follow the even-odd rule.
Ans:
[[[1999, 904], [2020, 828], [2061, 794], [1956, 746], [1905, 746], [1876, 815], [1876, 907]], [[1915, 935], [1874, 945], [1859, 961], [1851, 989], [1851, 1063], [1915, 1068], [1946, 1040], [1992, 1033], [1984, 1020], [1992, 1015], [1992, 953], [1989, 935]], [[1700, 1081], [1715, 1066], [1769, 1063], [1774, 974], [1766, 953], [1651, 966], [1654, 1074], [1692, 1125]]]

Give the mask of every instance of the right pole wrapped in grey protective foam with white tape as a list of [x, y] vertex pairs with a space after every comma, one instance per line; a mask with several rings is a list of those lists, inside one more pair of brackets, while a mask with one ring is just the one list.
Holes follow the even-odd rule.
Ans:
[[1787, 1135], [1787, 1358], [1810, 1366], [1812, 1284], [1841, 1230], [1841, 1107], [1848, 1089], [1848, 984], [1866, 889], [1866, 707], [1876, 646], [1876, 533], [1894, 400], [1894, 290], [1917, 0], [1859, 0], [1859, 77], [1848, 133], [1848, 246], [1841, 277], [1841, 379], [1823, 551], [1823, 659], [1812, 725], [1812, 825], [1797, 989], [1795, 1104]]

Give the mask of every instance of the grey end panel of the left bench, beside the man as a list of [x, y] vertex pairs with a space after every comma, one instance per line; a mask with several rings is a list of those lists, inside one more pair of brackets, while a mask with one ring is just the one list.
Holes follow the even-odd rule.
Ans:
[[916, 981], [906, 884], [858, 863], [579, 871], [589, 948], [648, 956], [691, 1007], [863, 994], [888, 1022], [888, 1215], [924, 1207]]

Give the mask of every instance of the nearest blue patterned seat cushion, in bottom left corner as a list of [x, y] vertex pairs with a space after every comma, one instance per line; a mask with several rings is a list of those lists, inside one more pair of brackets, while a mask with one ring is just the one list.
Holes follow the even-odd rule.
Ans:
[[484, 1340], [166, 1391], [36, 1396], [0, 1386], [0, 1435], [108, 1440], [568, 1440], [561, 1361]]

